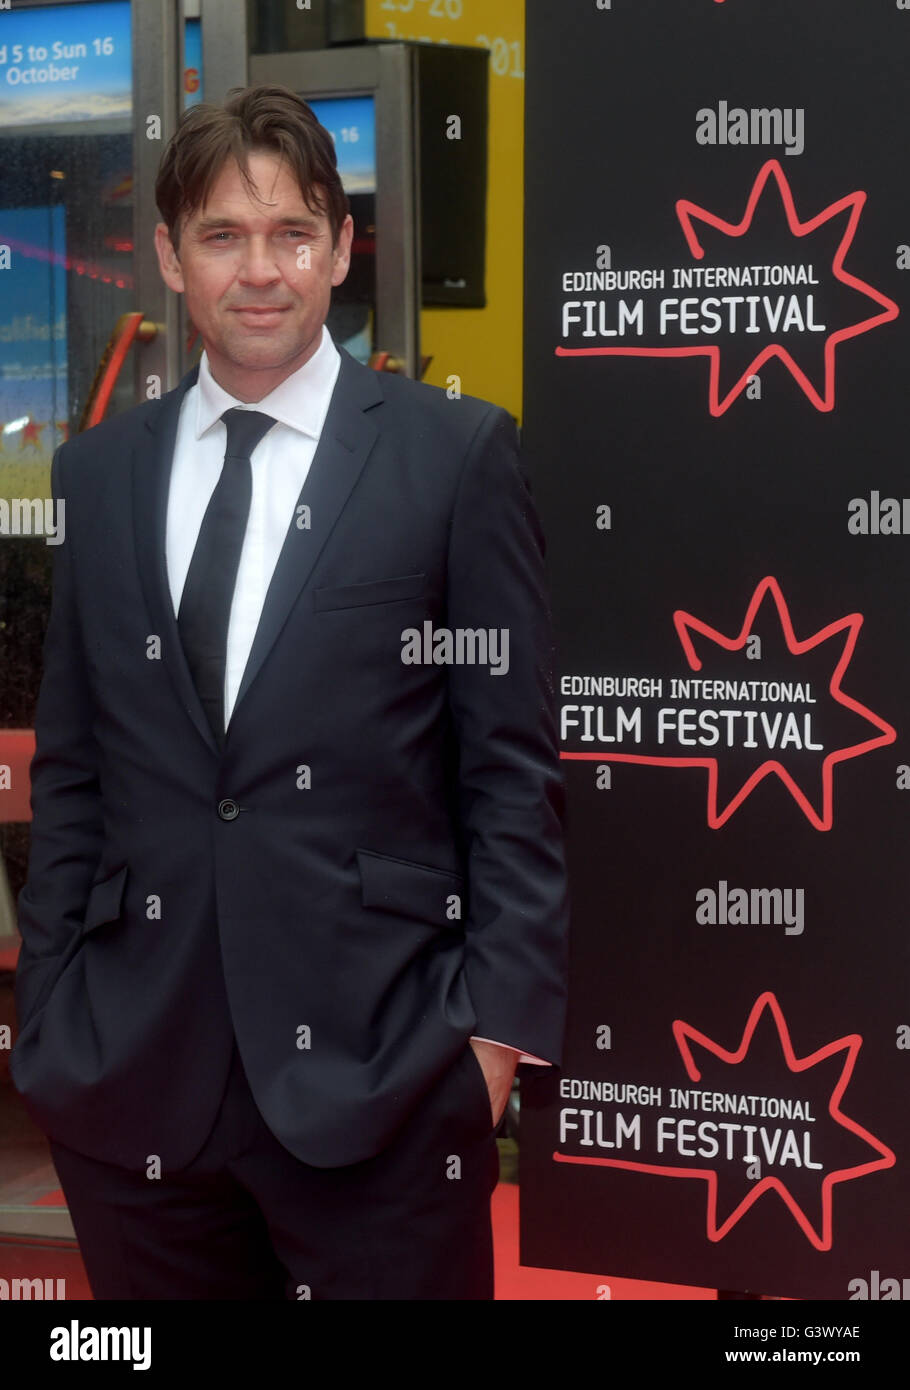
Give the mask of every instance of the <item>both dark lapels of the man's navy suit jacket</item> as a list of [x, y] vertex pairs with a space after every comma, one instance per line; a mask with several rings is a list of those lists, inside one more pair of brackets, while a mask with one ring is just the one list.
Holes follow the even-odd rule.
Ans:
[[[325, 417], [320, 443], [310, 464], [297, 507], [310, 507], [310, 527], [297, 527], [297, 507], [278, 556], [253, 646], [243, 671], [236, 708], [261, 670], [263, 662], [288, 621], [351, 489], [360, 477], [378, 430], [364, 411], [382, 402], [377, 374], [339, 348], [342, 364]], [[163, 656], [174, 680], [181, 705], [214, 753], [220, 753], [199, 699], [171, 602], [167, 573], [167, 506], [176, 425], [183, 398], [199, 375], [199, 367], [161, 400], [146, 420], [133, 450], [133, 530], [139, 577], [153, 632], [161, 637]], [[233, 716], [228, 724], [228, 737]]]

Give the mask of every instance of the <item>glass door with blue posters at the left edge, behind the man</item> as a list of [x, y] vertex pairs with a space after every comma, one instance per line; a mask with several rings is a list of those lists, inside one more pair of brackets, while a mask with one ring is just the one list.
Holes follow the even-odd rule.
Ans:
[[[210, 25], [232, 4], [208, 0]], [[18, 1273], [24, 1240], [49, 1250], [63, 1241], [75, 1255], [46, 1141], [8, 1069], [15, 901], [28, 862], [28, 767], [57, 539], [50, 464], [88, 424], [124, 316], [143, 332], [106, 414], [174, 386], [190, 356], [151, 229], [161, 150], [183, 104], [201, 96], [200, 19], [200, 0], [17, 0], [0, 13], [1, 1277]], [[245, 81], [245, 24], [221, 35], [220, 50], [222, 68]], [[213, 86], [218, 74], [215, 64]], [[36, 1248], [28, 1245], [32, 1277], [40, 1275]], [[78, 1284], [78, 1265], [74, 1277]]]

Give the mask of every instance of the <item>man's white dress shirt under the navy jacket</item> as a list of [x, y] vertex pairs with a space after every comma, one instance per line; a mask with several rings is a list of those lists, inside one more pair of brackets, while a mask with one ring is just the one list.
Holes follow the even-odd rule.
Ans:
[[[211, 375], [203, 353], [199, 377], [183, 396], [168, 491], [165, 555], [174, 613], [224, 464], [225, 410], [261, 410], [276, 421], [250, 455], [253, 495], [231, 603], [225, 662], [225, 728], [243, 680], [265, 594], [293, 523], [295, 506], [315, 455], [342, 359], [328, 328], [313, 357], [254, 403], [235, 400]], [[483, 1041], [493, 1042], [495, 1038]], [[507, 1044], [499, 1042], [499, 1047]], [[521, 1062], [540, 1058], [522, 1054]]]

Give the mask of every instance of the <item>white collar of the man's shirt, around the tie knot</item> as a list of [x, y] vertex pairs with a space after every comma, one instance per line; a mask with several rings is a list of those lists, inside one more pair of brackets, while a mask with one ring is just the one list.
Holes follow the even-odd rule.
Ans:
[[218, 385], [208, 367], [208, 354], [203, 352], [196, 381], [196, 438], [201, 439], [225, 410], [261, 410], [292, 430], [318, 439], [328, 413], [332, 391], [338, 378], [340, 356], [326, 325], [322, 325], [320, 346], [303, 367], [286, 377], [261, 400], [236, 400]]

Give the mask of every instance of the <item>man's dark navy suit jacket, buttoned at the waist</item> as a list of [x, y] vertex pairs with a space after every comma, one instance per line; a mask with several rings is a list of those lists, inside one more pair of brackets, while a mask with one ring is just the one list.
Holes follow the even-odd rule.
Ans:
[[[290, 523], [220, 751], [165, 573], [195, 379], [54, 456], [11, 1070], [53, 1138], [175, 1169], [236, 1036], [272, 1131], [338, 1166], [379, 1152], [472, 1034], [560, 1061], [543, 538], [504, 410], [342, 352], [310, 524]], [[507, 630], [507, 671], [404, 663], [425, 621]]]

